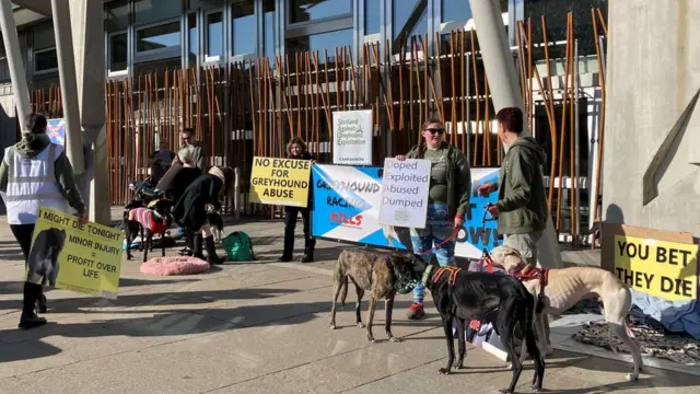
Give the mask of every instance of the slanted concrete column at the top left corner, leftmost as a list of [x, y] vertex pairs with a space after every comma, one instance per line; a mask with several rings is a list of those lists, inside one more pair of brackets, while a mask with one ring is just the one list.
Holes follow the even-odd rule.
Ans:
[[20, 49], [20, 37], [14, 25], [14, 14], [10, 0], [0, 0], [0, 25], [2, 27], [10, 78], [12, 79], [12, 93], [14, 93], [14, 101], [18, 106], [18, 118], [24, 131], [24, 118], [32, 113], [32, 102], [30, 101], [30, 90], [26, 84], [22, 50]]

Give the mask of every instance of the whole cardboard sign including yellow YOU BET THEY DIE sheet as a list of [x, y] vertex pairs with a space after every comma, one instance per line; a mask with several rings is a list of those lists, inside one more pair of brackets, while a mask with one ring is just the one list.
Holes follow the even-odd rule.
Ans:
[[600, 258], [602, 268], [637, 291], [698, 299], [698, 244], [690, 233], [604, 222]]

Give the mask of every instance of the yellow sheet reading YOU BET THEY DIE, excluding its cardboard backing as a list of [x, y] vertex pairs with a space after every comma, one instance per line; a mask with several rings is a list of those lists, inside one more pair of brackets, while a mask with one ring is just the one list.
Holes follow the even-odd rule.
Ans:
[[669, 301], [698, 298], [698, 245], [615, 235], [618, 278]]

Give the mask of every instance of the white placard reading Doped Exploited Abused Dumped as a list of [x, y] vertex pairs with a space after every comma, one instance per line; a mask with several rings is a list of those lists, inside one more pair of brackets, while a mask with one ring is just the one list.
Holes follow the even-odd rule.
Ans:
[[425, 228], [430, 169], [430, 160], [384, 160], [380, 224]]

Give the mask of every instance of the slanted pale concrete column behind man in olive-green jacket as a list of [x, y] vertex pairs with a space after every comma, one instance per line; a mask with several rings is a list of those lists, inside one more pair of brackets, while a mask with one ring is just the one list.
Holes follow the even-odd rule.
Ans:
[[[501, 9], [497, 0], [469, 0], [474, 23], [483, 58], [483, 68], [489, 77], [489, 84], [493, 97], [493, 107], [498, 112], [503, 107], [520, 107], [523, 109], [515, 63], [508, 45], [508, 35], [501, 16]], [[526, 135], [530, 135], [527, 121], [523, 118]], [[504, 151], [508, 147], [504, 144]], [[555, 233], [551, 217], [547, 221], [547, 229], [538, 245], [538, 265], [547, 268], [561, 268], [561, 253], [559, 240]]]

